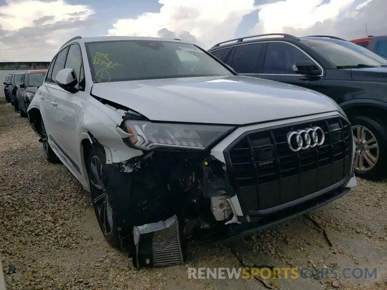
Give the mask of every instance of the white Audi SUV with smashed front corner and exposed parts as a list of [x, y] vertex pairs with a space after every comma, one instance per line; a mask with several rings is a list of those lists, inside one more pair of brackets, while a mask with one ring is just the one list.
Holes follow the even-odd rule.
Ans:
[[[91, 192], [113, 246], [169, 243], [162, 254], [177, 261], [188, 239], [247, 235], [356, 185], [351, 125], [336, 102], [239, 76], [184, 41], [70, 39], [35, 95], [27, 114], [46, 159]], [[158, 232], [171, 224], [177, 235]], [[168, 264], [153, 254], [137, 262]]]

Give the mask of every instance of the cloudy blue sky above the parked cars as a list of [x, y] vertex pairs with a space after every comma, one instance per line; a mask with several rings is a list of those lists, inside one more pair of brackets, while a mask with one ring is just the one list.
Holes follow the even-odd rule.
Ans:
[[385, 35], [386, 0], [0, 0], [0, 61], [51, 61], [68, 39], [180, 38], [209, 49], [264, 33]]

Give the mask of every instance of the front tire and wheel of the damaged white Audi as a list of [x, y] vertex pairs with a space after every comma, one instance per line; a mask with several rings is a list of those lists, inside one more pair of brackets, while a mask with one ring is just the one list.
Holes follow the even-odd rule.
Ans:
[[99, 227], [106, 241], [112, 247], [118, 248], [121, 246], [121, 242], [118, 234], [116, 209], [111, 206], [110, 194], [106, 193], [106, 184], [104, 184], [106, 182], [102, 177], [103, 173], [111, 167], [106, 164], [103, 148], [98, 145], [92, 147], [87, 164], [91, 198]]

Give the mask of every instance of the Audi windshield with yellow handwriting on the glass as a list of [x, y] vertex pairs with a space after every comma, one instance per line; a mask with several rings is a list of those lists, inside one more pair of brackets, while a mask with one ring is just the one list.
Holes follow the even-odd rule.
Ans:
[[193, 44], [123, 40], [85, 45], [94, 83], [233, 75]]

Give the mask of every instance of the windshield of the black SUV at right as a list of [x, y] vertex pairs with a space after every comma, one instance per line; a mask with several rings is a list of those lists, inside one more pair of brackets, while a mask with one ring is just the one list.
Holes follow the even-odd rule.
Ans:
[[303, 40], [336, 66], [387, 65], [387, 59], [373, 51], [349, 41]]

